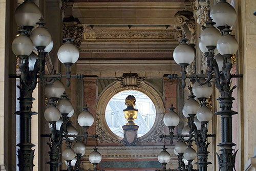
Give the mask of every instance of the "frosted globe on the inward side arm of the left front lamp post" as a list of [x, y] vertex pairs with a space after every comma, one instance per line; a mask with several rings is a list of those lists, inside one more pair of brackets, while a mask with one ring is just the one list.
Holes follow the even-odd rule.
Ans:
[[58, 50], [58, 59], [61, 63], [75, 63], [79, 58], [79, 50], [72, 41], [67, 41]]

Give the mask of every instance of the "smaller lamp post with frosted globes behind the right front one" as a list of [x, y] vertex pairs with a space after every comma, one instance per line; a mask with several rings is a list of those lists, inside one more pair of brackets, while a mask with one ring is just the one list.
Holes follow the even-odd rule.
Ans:
[[[202, 78], [201, 78], [202, 79]], [[187, 118], [188, 124], [182, 130], [181, 135], [174, 135], [174, 128], [179, 124], [179, 117], [174, 112], [174, 107], [171, 104], [171, 108], [169, 108], [169, 112], [167, 112], [164, 116], [164, 124], [169, 128], [169, 136], [161, 135], [161, 138], [170, 138], [170, 143], [173, 143], [173, 138], [178, 138], [179, 141], [187, 142], [187, 152], [185, 155], [181, 153], [184, 158], [188, 161], [187, 169], [193, 170], [191, 161], [193, 161], [194, 157], [194, 149], [191, 148], [192, 141], [195, 141], [198, 149], [198, 165], [199, 170], [207, 170], [207, 165], [211, 164], [207, 162], [208, 153], [207, 148], [209, 142], [207, 142], [207, 137], [215, 136], [207, 134], [207, 123], [212, 118], [212, 112], [206, 106], [206, 99], [211, 95], [212, 88], [208, 87], [208, 85], [204, 84], [203, 86], [199, 86], [199, 83], [195, 82], [193, 88], [189, 87], [190, 95], [188, 96], [187, 101], [185, 102], [182, 113]], [[200, 104], [194, 99], [196, 96], [192, 93], [194, 92], [197, 95], [197, 98], [201, 102]], [[197, 116], [197, 118], [195, 118]], [[178, 142], [180, 144], [181, 142]], [[179, 149], [178, 149], [179, 151]], [[177, 152], [177, 151], [176, 151]], [[178, 153], [179, 154], [179, 153]], [[180, 154], [179, 154], [180, 155]]]

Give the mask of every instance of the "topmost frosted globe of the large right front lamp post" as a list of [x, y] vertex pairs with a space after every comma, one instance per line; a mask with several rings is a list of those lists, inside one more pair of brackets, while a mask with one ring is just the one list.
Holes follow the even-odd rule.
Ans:
[[234, 8], [226, 1], [220, 1], [210, 11], [212, 20], [216, 23], [215, 27], [233, 26], [236, 23], [237, 13]]

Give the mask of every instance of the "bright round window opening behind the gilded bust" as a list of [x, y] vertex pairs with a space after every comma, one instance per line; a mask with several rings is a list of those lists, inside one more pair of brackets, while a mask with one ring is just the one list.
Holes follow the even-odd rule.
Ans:
[[123, 137], [122, 126], [127, 123], [123, 114], [127, 107], [124, 102], [129, 95], [136, 98], [135, 109], [138, 110], [138, 116], [134, 122], [139, 126], [138, 137], [141, 137], [151, 130], [156, 119], [156, 109], [152, 100], [140, 91], [124, 90], [114, 95], [106, 106], [106, 123], [114, 134]]

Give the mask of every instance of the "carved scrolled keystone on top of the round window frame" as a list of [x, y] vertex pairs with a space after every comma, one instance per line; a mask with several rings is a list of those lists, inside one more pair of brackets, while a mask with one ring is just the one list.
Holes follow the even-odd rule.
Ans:
[[122, 89], [139, 89], [141, 81], [146, 77], [139, 77], [138, 74], [124, 73], [122, 77], [115, 77], [117, 81], [121, 82]]

